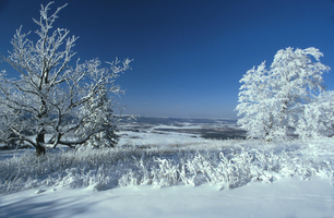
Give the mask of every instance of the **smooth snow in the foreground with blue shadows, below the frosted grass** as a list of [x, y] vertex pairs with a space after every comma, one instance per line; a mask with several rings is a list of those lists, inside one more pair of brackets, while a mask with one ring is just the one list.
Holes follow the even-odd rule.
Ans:
[[0, 198], [0, 217], [334, 217], [334, 187], [327, 179], [298, 177], [273, 183], [251, 182], [234, 190], [217, 186], [174, 185], [163, 189], [117, 187], [96, 192], [87, 189], [36, 189]]

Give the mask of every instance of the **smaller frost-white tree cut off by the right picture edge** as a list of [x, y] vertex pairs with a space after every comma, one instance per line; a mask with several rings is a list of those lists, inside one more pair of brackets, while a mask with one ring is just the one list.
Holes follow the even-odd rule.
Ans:
[[305, 106], [296, 132], [301, 137], [333, 136], [334, 92], [323, 92]]

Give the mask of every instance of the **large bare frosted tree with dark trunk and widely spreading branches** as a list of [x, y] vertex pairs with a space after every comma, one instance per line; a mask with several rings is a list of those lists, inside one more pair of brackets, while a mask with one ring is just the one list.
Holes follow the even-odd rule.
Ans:
[[98, 59], [71, 62], [77, 37], [69, 36], [65, 28], [53, 28], [65, 5], [48, 14], [51, 3], [41, 5], [40, 19], [34, 20], [39, 26], [38, 40], [29, 40], [20, 27], [11, 41], [13, 51], [1, 57], [20, 78], [9, 78], [5, 71], [0, 74], [0, 138], [28, 143], [37, 156], [46, 146], [75, 147], [96, 138], [114, 145], [117, 118], [112, 96], [122, 93], [115, 80], [131, 61], [116, 59], [106, 63], [108, 68]]

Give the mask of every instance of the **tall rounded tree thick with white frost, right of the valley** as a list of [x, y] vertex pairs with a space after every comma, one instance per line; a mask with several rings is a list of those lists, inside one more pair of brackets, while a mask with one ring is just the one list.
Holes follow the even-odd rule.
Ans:
[[[285, 137], [296, 128], [303, 107], [321, 90], [322, 73], [330, 70], [315, 48], [277, 51], [269, 70], [264, 63], [240, 80], [238, 123], [249, 137]], [[314, 59], [314, 60], [313, 60]]]

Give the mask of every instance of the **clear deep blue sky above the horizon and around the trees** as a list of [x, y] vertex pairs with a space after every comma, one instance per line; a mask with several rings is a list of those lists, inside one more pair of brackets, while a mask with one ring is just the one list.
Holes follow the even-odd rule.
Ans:
[[[36, 31], [32, 17], [48, 2], [0, 0], [1, 55], [20, 25]], [[286, 47], [319, 48], [334, 69], [332, 0], [56, 0], [52, 9], [65, 2], [55, 26], [80, 36], [75, 58], [134, 59], [117, 81], [124, 113], [236, 118], [239, 80]], [[332, 71], [323, 77], [334, 89]]]

